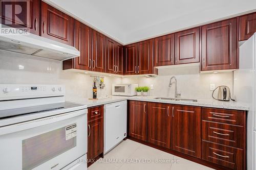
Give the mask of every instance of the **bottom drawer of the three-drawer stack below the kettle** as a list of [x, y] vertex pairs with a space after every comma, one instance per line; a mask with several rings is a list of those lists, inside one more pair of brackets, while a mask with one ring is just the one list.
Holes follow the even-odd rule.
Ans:
[[231, 169], [243, 169], [243, 150], [202, 141], [202, 159]]

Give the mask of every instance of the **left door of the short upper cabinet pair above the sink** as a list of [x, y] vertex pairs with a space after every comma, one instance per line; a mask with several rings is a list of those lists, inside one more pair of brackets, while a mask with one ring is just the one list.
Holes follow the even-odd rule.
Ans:
[[174, 34], [154, 38], [154, 66], [174, 64]]

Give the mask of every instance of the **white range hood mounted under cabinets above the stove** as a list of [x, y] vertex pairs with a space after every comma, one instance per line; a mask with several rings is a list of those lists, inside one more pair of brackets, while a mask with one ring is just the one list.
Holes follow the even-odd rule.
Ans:
[[60, 61], [80, 56], [73, 46], [30, 33], [0, 34], [0, 49]]

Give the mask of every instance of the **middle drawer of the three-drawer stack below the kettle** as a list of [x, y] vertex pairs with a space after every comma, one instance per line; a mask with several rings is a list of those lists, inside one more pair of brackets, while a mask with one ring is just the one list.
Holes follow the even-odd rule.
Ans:
[[241, 149], [244, 148], [243, 130], [243, 126], [202, 121], [202, 139]]

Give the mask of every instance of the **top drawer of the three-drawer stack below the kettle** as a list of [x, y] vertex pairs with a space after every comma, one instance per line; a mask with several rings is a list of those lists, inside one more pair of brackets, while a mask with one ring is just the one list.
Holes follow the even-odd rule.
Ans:
[[220, 122], [233, 125], [244, 124], [245, 112], [242, 110], [228, 110], [228, 109], [215, 109], [203, 108], [202, 119], [212, 122]]

